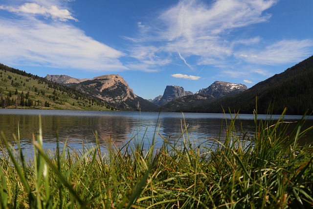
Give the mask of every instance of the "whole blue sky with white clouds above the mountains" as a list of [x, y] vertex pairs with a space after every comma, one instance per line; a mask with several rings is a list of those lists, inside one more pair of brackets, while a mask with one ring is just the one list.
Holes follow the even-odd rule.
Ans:
[[313, 55], [313, 0], [0, 0], [0, 63], [32, 74], [251, 87]]

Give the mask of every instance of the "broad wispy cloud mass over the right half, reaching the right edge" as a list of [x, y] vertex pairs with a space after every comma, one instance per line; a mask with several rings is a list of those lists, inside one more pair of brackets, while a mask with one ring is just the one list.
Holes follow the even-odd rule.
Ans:
[[154, 21], [139, 22], [140, 33], [129, 40], [133, 40], [136, 46], [144, 45], [142, 51], [148, 46], [159, 46], [158, 53], [167, 55], [172, 63], [175, 54], [179, 54], [188, 68], [191, 65], [184, 57], [192, 57], [195, 61], [191, 69], [197, 68], [195, 64], [229, 67], [229, 59], [234, 59], [233, 63], [245, 61], [268, 65], [301, 61], [310, 55], [309, 47], [312, 51], [310, 40], [282, 40], [271, 44], [258, 35], [246, 39], [236, 39], [234, 35], [237, 29], [270, 21], [272, 15], [267, 10], [277, 2], [179, 0], [159, 13]]

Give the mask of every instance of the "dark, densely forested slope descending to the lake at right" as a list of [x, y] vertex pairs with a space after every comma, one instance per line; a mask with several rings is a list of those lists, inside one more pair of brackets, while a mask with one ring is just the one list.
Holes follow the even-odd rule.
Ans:
[[303, 115], [313, 110], [313, 56], [301, 63], [262, 81], [243, 93], [217, 99], [191, 112], [222, 113], [240, 111], [252, 114], [255, 97], [258, 98], [258, 113], [266, 114], [268, 107], [273, 114], [281, 114], [287, 107], [289, 115]]

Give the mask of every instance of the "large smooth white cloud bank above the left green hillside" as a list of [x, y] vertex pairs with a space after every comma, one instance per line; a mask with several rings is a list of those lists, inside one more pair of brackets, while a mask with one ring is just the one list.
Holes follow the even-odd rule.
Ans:
[[1, 62], [83, 70], [126, 70], [124, 54], [66, 23], [0, 19]]

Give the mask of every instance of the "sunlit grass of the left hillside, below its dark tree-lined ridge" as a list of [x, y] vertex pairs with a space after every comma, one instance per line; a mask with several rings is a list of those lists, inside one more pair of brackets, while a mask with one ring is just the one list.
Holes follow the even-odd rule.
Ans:
[[[11, 82], [18, 84], [12, 86]], [[15, 94], [17, 90], [18, 94]], [[75, 90], [72, 90], [73, 92]], [[11, 96], [9, 96], [11, 93]], [[30, 107], [21, 106], [20, 104], [6, 105], [6, 108], [20, 109], [54, 109], [54, 110], [109, 110], [105, 106], [93, 104], [91, 98], [83, 98], [75, 96], [74, 93], [68, 93], [59, 88], [49, 88], [45, 82], [40, 80], [19, 75], [10, 71], [0, 69], [0, 97], [12, 100], [20, 100], [21, 94], [29, 93], [29, 98], [33, 100]], [[57, 97], [54, 99], [53, 97]], [[38, 102], [39, 101], [39, 102]], [[45, 107], [48, 102], [49, 107]], [[2, 106], [1, 106], [2, 108]]]

